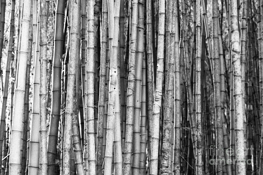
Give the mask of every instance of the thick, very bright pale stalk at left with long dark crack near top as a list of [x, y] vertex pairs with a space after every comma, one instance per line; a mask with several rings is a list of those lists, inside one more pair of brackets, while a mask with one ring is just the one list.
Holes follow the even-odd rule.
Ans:
[[9, 174], [11, 175], [19, 174], [20, 169], [20, 138], [23, 132], [23, 111], [21, 111], [21, 106], [24, 106], [25, 99], [25, 78], [30, 27], [30, 7], [31, 0], [25, 0], [23, 2], [23, 14], [21, 15], [21, 40], [18, 53], [19, 64], [16, 76], [14, 94], [14, 118], [10, 143]]

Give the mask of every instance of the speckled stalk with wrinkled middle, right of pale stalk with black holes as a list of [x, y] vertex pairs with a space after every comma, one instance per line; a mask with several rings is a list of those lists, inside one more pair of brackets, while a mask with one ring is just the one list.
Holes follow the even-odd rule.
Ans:
[[133, 143], [133, 124], [134, 124], [134, 89], [135, 89], [135, 60], [136, 60], [136, 42], [137, 42], [137, 17], [138, 17], [138, 1], [132, 3], [132, 26], [131, 26], [131, 48], [129, 52], [129, 76], [127, 88], [127, 120], [126, 120], [126, 136], [124, 150], [124, 169], [123, 174], [131, 173], [131, 156]]

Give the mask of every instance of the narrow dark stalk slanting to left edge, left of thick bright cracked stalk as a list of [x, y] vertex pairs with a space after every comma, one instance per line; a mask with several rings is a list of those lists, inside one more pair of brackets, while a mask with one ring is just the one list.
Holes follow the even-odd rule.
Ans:
[[[6, 76], [5, 76], [4, 94], [3, 94], [2, 111], [1, 111], [1, 122], [0, 122], [0, 154], [1, 154], [0, 157], [2, 159], [4, 158], [2, 150], [3, 150], [3, 139], [5, 137], [4, 131], [6, 129], [6, 104], [7, 104], [7, 97], [8, 97], [9, 74], [10, 74], [11, 59], [12, 59], [12, 54], [13, 54], [12, 47], [13, 47], [13, 41], [14, 41], [14, 38], [13, 38], [14, 25], [15, 25], [14, 18], [15, 18], [15, 0], [13, 0], [11, 4], [11, 20], [10, 20], [9, 39], [8, 39], [8, 54], [7, 54], [7, 60], [6, 60]], [[0, 45], [1, 45], [1, 41], [0, 41]], [[1, 57], [1, 54], [2, 54], [2, 49], [0, 51], [0, 57]], [[0, 161], [0, 166], [2, 167], [2, 161]]]

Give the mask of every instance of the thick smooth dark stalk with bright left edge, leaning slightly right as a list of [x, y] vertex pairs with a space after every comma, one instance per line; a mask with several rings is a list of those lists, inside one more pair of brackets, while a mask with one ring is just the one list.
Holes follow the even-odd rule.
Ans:
[[60, 118], [60, 99], [61, 99], [61, 58], [63, 55], [64, 44], [64, 18], [65, 18], [65, 1], [57, 0], [56, 7], [56, 24], [54, 34], [54, 55], [52, 64], [52, 101], [51, 116], [49, 121], [48, 136], [48, 174], [55, 171], [56, 145], [58, 141], [58, 124]]

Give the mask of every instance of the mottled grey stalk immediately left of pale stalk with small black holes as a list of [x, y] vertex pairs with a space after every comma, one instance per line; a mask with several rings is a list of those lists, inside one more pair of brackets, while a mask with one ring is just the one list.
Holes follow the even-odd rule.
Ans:
[[96, 171], [98, 175], [102, 174], [102, 144], [103, 144], [103, 120], [105, 119], [105, 78], [106, 78], [106, 57], [107, 57], [107, 26], [108, 26], [108, 6], [107, 0], [102, 2], [102, 35], [101, 35], [101, 69], [100, 69], [100, 92], [98, 104], [98, 135], [97, 135], [97, 154]]

